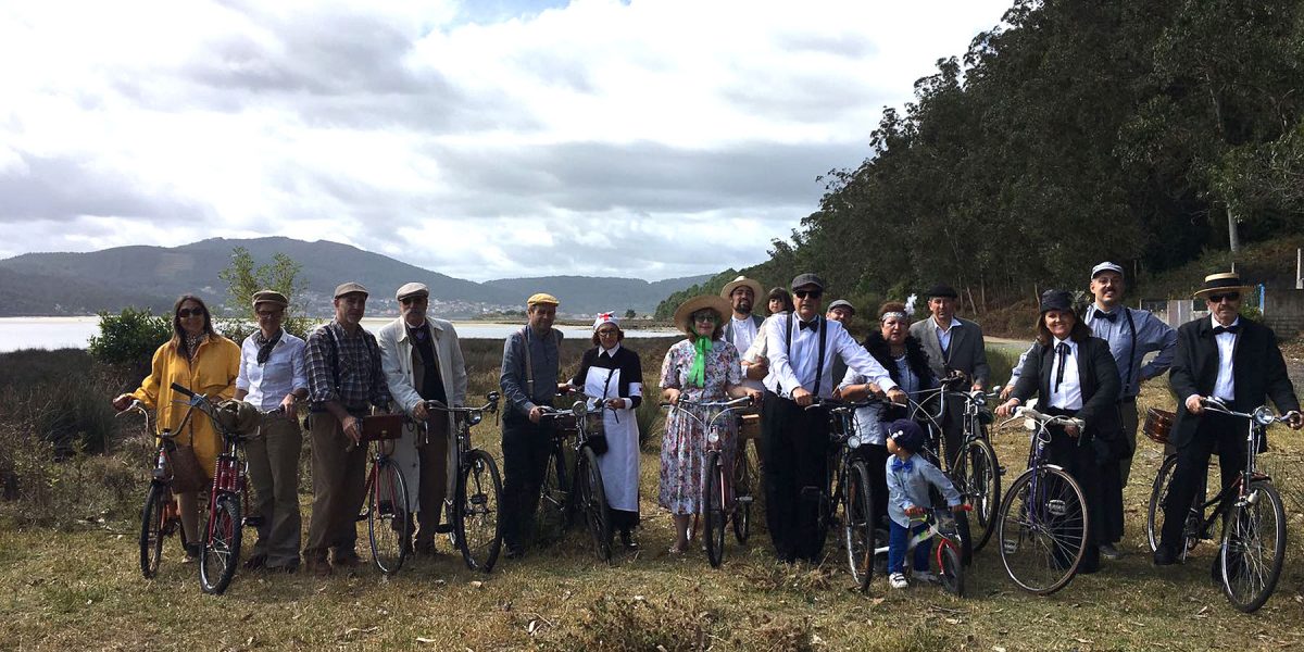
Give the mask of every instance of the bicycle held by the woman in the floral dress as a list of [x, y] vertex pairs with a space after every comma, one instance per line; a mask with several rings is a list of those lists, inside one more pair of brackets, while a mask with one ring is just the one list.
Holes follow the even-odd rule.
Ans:
[[[747, 539], [747, 520], [751, 519], [751, 481], [747, 477], [746, 450], [738, 446], [734, 455], [728, 455], [725, 449], [726, 425], [721, 417], [734, 419], [742, 409], [751, 407], [751, 396], [733, 400], [689, 400], [681, 398], [678, 403], [661, 403], [661, 407], [672, 411], [682, 409], [685, 415], [696, 421], [707, 433], [705, 463], [702, 472], [702, 519], [705, 522], [707, 561], [712, 567], [719, 569], [725, 557], [725, 523], [733, 522], [734, 536], [738, 542]], [[695, 409], [715, 409], [709, 419], [698, 416]], [[737, 455], [743, 455], [738, 459]], [[739, 473], [743, 476], [739, 481]], [[739, 493], [742, 489], [746, 493]], [[743, 523], [739, 523], [743, 522]]]

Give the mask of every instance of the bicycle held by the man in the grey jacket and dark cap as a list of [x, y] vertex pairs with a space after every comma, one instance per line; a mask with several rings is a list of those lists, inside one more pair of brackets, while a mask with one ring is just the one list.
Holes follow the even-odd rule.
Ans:
[[[987, 402], [998, 399], [1000, 387], [995, 387], [990, 394], [979, 390], [955, 391], [951, 389], [955, 385], [965, 382], [968, 382], [968, 378], [961, 374], [953, 374], [944, 378], [939, 387], [921, 393], [919, 402], [913, 406], [911, 416], [917, 420], [921, 413], [927, 417], [925, 421], [930, 425], [930, 434], [938, 439], [938, 456], [940, 464], [944, 464], [939, 466], [939, 468], [943, 468], [951, 476], [951, 481], [956, 485], [960, 496], [964, 497], [966, 503], [973, 506], [979, 531], [974, 533], [969, 545], [971, 546], [971, 552], [978, 552], [991, 539], [994, 516], [996, 509], [1000, 506], [1000, 477], [1005, 475], [1005, 468], [996, 459], [996, 449], [991, 446], [991, 438], [987, 433], [987, 424], [992, 420], [991, 411], [987, 409]], [[923, 408], [923, 404], [928, 403], [932, 396], [938, 396], [936, 413], [931, 413]], [[951, 463], [952, 456], [949, 454], [940, 455], [940, 443], [944, 438], [941, 437], [939, 424], [943, 415], [947, 413], [948, 398], [964, 403], [960, 450], [955, 455], [953, 464]]]

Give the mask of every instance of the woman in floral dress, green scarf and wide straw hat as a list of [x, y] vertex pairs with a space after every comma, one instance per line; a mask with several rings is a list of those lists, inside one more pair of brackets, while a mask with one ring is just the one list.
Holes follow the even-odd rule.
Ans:
[[[726, 400], [760, 393], [742, 385], [738, 349], [725, 342], [724, 323], [733, 306], [724, 297], [703, 295], [685, 301], [674, 312], [674, 323], [687, 339], [670, 347], [661, 363], [661, 398], [672, 404]], [[724, 438], [725, 456], [732, 456], [735, 437]], [[661, 439], [661, 488], [657, 502], [674, 518], [675, 541], [670, 553], [689, 549], [689, 524], [702, 511], [702, 472], [705, 467], [707, 433], [699, 422], [674, 409], [665, 419]]]

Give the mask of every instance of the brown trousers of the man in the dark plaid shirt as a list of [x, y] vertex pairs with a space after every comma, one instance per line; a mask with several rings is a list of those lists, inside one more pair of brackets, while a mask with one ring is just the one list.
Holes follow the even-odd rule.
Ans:
[[304, 558], [357, 557], [357, 515], [366, 497], [366, 446], [356, 446], [339, 420], [313, 413], [313, 516], [308, 526]]

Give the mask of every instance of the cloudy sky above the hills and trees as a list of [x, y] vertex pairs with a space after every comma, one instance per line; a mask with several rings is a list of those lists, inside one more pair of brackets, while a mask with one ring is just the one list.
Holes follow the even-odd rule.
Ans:
[[767, 258], [1011, 0], [0, 7], [0, 258], [334, 240], [472, 280]]

